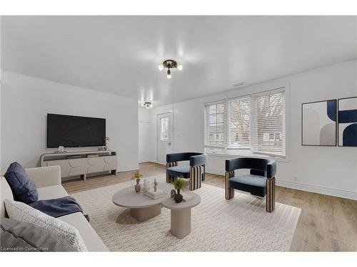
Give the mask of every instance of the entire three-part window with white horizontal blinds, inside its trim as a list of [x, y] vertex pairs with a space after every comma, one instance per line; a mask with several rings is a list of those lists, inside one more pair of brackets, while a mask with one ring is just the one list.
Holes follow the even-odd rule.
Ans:
[[[285, 88], [205, 105], [205, 146], [285, 157]], [[215, 148], [216, 147], [216, 148]]]

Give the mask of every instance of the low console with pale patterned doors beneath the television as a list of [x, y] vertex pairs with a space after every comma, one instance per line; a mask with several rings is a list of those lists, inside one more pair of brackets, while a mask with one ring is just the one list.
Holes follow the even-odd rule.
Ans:
[[[93, 157], [94, 155], [96, 157]], [[86, 180], [86, 174], [96, 172], [116, 174], [117, 169], [116, 152], [111, 150], [44, 153], [40, 160], [41, 167], [59, 165], [62, 178], [80, 175], [81, 179]]]

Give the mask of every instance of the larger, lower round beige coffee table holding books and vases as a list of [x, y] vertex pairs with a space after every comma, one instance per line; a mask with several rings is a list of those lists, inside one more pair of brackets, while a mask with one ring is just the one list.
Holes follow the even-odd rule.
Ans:
[[116, 192], [113, 196], [113, 203], [130, 209], [130, 214], [138, 221], [146, 221], [161, 214], [161, 202], [170, 197], [171, 184], [159, 183], [158, 188], [166, 192], [164, 197], [151, 199], [142, 192], [136, 193], [134, 184]]

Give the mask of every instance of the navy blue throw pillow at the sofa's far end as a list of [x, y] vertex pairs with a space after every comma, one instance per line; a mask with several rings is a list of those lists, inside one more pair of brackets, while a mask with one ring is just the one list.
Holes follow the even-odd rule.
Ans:
[[30, 204], [39, 200], [36, 185], [19, 162], [12, 162], [4, 177], [10, 185], [16, 201]]

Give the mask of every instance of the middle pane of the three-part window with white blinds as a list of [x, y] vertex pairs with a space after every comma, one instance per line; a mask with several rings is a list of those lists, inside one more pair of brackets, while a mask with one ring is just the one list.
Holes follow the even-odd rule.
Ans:
[[228, 102], [228, 147], [249, 148], [250, 98], [240, 98]]

